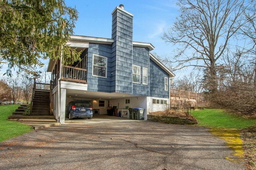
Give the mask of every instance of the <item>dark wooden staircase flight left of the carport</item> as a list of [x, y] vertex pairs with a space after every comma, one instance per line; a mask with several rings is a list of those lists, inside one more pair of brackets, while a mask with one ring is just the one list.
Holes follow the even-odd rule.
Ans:
[[34, 90], [30, 116], [49, 116], [50, 114], [50, 90]]

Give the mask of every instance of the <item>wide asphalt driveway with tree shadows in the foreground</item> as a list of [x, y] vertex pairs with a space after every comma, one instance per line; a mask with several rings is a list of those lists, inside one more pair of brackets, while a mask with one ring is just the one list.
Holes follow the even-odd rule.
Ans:
[[230, 161], [236, 157], [225, 141], [204, 127], [119, 120], [70, 121], [4, 141], [0, 169], [245, 169], [243, 162]]

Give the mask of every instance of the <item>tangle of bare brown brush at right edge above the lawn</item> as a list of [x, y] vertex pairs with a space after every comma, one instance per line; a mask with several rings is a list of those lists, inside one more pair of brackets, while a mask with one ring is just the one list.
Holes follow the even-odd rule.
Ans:
[[225, 63], [218, 68], [219, 90], [212, 97], [214, 103], [236, 113], [256, 113], [255, 64], [243, 51], [227, 53]]

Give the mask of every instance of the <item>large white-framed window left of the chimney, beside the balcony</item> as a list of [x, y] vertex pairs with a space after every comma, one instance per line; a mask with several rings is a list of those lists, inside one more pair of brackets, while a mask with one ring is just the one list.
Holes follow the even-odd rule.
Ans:
[[93, 55], [92, 75], [99, 77], [107, 77], [107, 58], [99, 55]]

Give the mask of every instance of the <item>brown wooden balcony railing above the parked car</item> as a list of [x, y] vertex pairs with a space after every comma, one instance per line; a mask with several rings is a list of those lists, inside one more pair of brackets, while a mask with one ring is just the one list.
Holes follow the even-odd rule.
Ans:
[[62, 68], [63, 68], [62, 79], [78, 81], [78, 82], [86, 82], [86, 74], [87, 74], [86, 69], [67, 66], [67, 65], [64, 65]]

